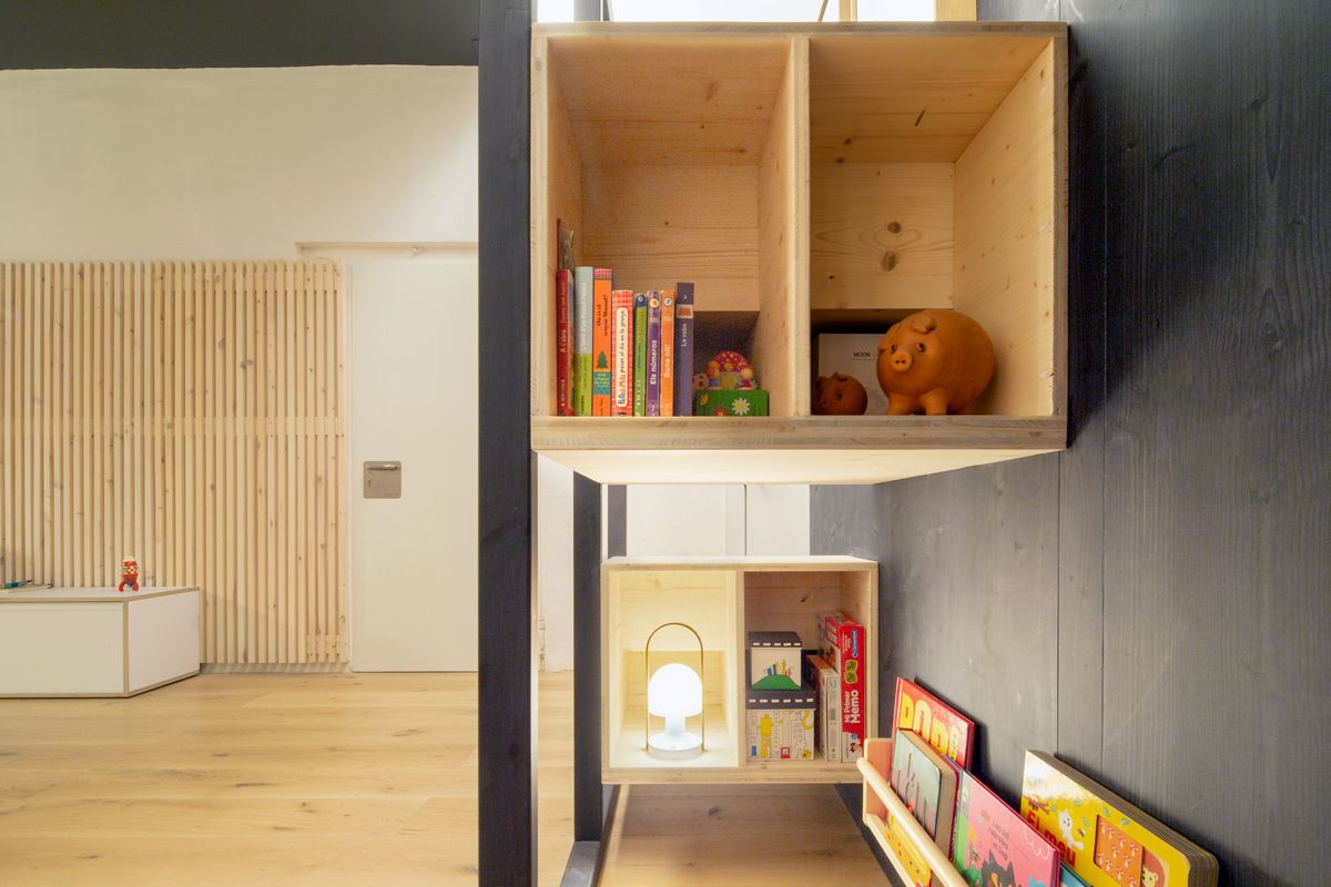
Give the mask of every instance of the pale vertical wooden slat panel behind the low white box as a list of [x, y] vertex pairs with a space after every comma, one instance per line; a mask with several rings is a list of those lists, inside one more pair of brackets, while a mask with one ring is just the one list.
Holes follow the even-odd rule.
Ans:
[[0, 263], [0, 578], [204, 590], [204, 658], [346, 661], [342, 273]]

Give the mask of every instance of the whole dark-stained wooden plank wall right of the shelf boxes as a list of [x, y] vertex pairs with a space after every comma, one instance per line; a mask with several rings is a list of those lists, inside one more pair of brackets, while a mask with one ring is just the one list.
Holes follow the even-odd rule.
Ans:
[[882, 563], [882, 686], [976, 717], [1009, 801], [1053, 749], [1222, 883], [1326, 883], [1331, 4], [981, 16], [1071, 27], [1073, 444], [817, 488], [815, 551]]

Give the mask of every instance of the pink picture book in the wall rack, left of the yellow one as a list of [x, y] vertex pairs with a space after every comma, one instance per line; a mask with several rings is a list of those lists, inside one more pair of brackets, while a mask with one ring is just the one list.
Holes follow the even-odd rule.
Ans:
[[961, 774], [952, 864], [974, 887], [1054, 887], [1058, 848], [989, 786]]

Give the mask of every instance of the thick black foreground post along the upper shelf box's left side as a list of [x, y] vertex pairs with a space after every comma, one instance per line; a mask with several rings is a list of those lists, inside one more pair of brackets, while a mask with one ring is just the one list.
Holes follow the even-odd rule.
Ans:
[[[480, 4], [480, 342], [531, 351], [531, 4]], [[438, 384], [449, 384], [439, 379]], [[480, 374], [480, 883], [536, 883], [531, 370]]]

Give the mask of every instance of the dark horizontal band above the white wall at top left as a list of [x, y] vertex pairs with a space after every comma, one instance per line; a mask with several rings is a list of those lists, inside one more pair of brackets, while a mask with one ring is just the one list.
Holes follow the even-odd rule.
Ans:
[[480, 0], [0, 0], [0, 68], [475, 65]]

